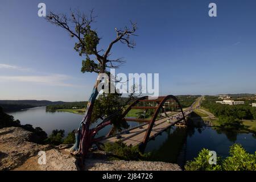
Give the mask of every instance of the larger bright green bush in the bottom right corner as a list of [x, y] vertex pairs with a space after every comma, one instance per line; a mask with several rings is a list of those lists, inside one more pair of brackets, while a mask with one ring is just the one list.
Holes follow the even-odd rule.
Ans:
[[222, 169], [225, 171], [255, 171], [256, 170], [256, 152], [249, 154], [241, 146], [234, 144], [230, 147], [229, 155], [222, 163]]

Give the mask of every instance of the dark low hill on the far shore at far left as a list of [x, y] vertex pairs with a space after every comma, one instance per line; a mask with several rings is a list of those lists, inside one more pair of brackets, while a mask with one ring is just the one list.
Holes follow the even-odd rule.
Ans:
[[32, 107], [48, 106], [48, 105], [58, 105], [65, 104], [68, 102], [63, 101], [37, 101], [37, 100], [0, 100], [0, 106], [3, 107], [3, 111], [16, 111], [21, 109], [28, 109]]

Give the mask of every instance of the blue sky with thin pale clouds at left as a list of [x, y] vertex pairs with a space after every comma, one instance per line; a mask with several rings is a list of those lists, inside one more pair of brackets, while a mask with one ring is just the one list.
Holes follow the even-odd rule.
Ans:
[[[115, 27], [137, 22], [136, 48], [123, 44], [123, 73], [159, 73], [160, 94], [256, 93], [256, 1], [0, 1], [0, 100], [87, 100], [96, 74], [81, 73], [74, 39], [38, 16], [69, 9], [98, 15], [106, 48]], [[208, 5], [217, 5], [210, 18]]]

